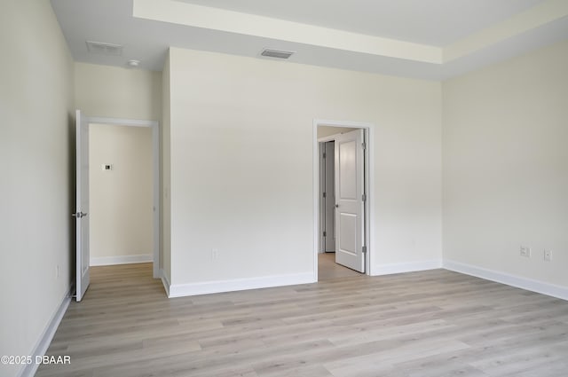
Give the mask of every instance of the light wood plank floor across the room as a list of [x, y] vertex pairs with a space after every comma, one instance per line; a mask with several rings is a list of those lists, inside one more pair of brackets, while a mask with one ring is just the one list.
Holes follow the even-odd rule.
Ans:
[[93, 268], [48, 350], [71, 365], [36, 376], [568, 376], [568, 302], [451, 271], [176, 299], [151, 275]]

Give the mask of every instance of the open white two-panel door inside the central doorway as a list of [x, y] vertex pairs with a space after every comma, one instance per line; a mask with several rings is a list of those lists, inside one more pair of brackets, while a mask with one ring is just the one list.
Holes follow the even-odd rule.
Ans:
[[335, 263], [365, 272], [363, 130], [335, 137]]

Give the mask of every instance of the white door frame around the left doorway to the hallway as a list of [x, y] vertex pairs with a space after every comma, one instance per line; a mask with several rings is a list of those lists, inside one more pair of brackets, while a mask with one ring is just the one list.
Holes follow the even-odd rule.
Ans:
[[153, 192], [152, 201], [154, 212], [152, 215], [152, 224], [154, 230], [154, 253], [153, 253], [153, 269], [152, 275], [154, 279], [160, 279], [160, 130], [157, 121], [138, 121], [134, 119], [122, 118], [101, 118], [97, 116], [87, 117], [89, 123], [108, 124], [111, 126], [130, 126], [130, 127], [150, 127], [152, 129], [152, 182]]

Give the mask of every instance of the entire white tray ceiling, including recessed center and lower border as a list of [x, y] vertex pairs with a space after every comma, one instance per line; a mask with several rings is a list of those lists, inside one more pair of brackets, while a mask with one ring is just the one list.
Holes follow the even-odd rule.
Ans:
[[[162, 70], [169, 46], [446, 79], [568, 38], [568, 0], [51, 0], [75, 60]], [[122, 56], [87, 51], [116, 43]], [[260, 58], [258, 58], [260, 59]]]

